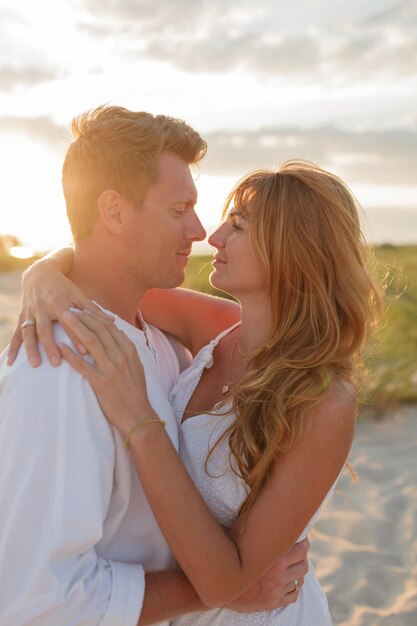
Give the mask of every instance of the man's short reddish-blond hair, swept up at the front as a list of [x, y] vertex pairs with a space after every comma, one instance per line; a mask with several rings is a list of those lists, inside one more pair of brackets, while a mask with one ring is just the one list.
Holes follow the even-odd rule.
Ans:
[[162, 152], [195, 164], [207, 150], [204, 139], [183, 120], [117, 106], [99, 106], [75, 117], [71, 131], [62, 186], [74, 241], [91, 233], [103, 191], [115, 189], [139, 208], [158, 181]]

